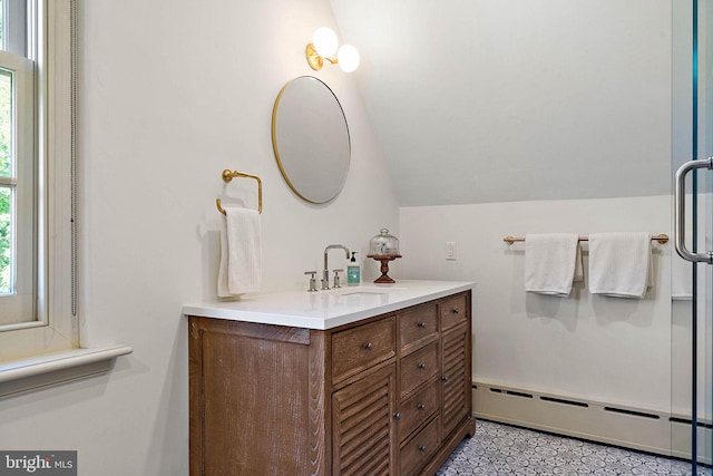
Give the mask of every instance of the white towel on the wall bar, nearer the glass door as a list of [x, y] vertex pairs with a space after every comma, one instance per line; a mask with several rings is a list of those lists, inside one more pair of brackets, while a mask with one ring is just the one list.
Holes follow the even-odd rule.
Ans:
[[651, 283], [651, 236], [646, 232], [589, 235], [589, 292], [643, 299]]

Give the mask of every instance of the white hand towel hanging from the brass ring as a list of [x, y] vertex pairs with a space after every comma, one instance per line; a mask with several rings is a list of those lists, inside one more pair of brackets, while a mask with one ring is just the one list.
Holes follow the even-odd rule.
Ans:
[[258, 292], [262, 285], [260, 213], [225, 207], [225, 220], [221, 223], [218, 295]]

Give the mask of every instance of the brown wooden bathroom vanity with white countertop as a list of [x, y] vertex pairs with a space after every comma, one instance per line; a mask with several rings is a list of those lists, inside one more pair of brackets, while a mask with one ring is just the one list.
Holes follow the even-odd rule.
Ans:
[[433, 474], [468, 435], [472, 283], [186, 305], [191, 475]]

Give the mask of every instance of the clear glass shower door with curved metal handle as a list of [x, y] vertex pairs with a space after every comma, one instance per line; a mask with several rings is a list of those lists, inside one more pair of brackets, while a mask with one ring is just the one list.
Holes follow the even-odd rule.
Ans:
[[713, 457], [713, 1], [673, 1], [672, 453]]

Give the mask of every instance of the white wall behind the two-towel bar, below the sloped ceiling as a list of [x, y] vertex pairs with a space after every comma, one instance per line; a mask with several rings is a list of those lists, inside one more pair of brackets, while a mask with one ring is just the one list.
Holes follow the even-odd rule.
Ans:
[[[607, 231], [671, 235], [671, 197], [510, 202], [401, 208], [402, 273], [472, 280], [473, 377], [515, 388], [579, 396], [652, 410], [671, 409], [673, 243], [654, 245], [654, 286], [644, 300], [525, 293], [526, 233]], [[428, 223], [424, 227], [422, 224]], [[446, 261], [446, 242], [457, 261]]]

